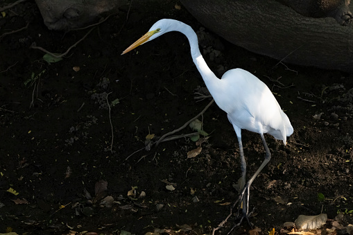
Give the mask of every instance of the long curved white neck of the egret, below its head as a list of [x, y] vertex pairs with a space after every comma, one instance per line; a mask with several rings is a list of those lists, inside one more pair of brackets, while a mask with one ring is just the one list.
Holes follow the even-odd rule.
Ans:
[[211, 69], [209, 69], [203, 58], [203, 55], [201, 55], [200, 49], [198, 48], [198, 36], [196, 35], [195, 31], [193, 31], [190, 26], [182, 22], [178, 24], [178, 29], [176, 31], [179, 31], [180, 33], [183, 33], [185, 36], [187, 36], [190, 44], [191, 57], [196, 65], [196, 68], [203, 77], [209, 92], [212, 95], [217, 94], [217, 92], [214, 91], [218, 88], [218, 83], [221, 82], [221, 80], [219, 80], [211, 71]]

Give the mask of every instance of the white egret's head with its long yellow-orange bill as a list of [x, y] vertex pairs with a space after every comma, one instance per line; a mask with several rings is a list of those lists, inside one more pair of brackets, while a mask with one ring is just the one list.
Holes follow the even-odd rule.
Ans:
[[167, 33], [170, 30], [171, 24], [173, 24], [173, 19], [160, 19], [159, 21], [155, 22], [152, 27], [150, 27], [150, 30], [143, 35], [139, 40], [134, 42], [131, 46], [129, 46], [121, 55], [128, 53], [132, 49], [135, 49], [137, 46], [144, 44], [145, 42], [149, 42], [151, 40], [154, 40], [156, 37], [160, 37], [160, 35], [163, 35], [164, 33]]

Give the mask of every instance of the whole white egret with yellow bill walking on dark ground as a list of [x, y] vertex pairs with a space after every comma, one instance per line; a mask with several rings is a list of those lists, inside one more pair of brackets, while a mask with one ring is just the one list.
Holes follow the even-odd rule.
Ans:
[[[266, 144], [264, 133], [271, 134], [275, 139], [282, 140], [286, 144], [286, 137], [293, 134], [293, 127], [288, 116], [279, 107], [275, 97], [268, 87], [259, 78], [243, 69], [231, 69], [217, 78], [207, 67], [207, 64], [198, 48], [198, 37], [193, 29], [174, 19], [161, 19], [150, 28], [148, 33], [142, 36], [134, 44], [128, 47], [121, 55], [135, 49], [137, 46], [154, 40], [164, 33], [178, 31], [187, 36], [189, 40], [191, 57], [200, 72], [207, 89], [212, 94], [218, 107], [227, 113], [228, 120], [232, 123], [239, 141], [241, 155], [241, 171], [243, 184], [246, 182], [246, 161], [241, 142], [241, 129], [257, 132], [261, 135], [266, 150], [266, 157], [261, 166], [246, 183], [239, 195], [237, 202], [243, 201], [243, 218], [249, 216], [248, 202], [250, 185], [266, 164], [270, 161], [270, 150]], [[244, 196], [245, 195], [245, 196]], [[234, 203], [234, 204], [236, 204]], [[228, 216], [229, 217], [229, 216]], [[225, 221], [223, 221], [225, 222]], [[241, 223], [241, 222], [240, 222]]]

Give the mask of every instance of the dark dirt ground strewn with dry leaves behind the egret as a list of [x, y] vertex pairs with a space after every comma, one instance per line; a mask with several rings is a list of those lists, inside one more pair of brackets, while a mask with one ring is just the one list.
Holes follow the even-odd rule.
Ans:
[[[342, 211], [339, 223], [353, 223], [353, 76], [250, 53], [202, 28], [175, 3], [134, 2], [127, 21], [128, 7], [51, 64], [29, 46], [64, 53], [89, 29], [48, 31], [32, 2], [0, 20], [0, 35], [29, 22], [0, 44], [0, 233], [207, 234], [229, 214], [241, 175], [239, 147], [215, 104], [203, 115], [203, 130], [211, 134], [196, 157], [187, 158], [198, 148], [189, 138], [144, 149], [148, 134], [179, 128], [210, 101], [195, 99], [205, 84], [184, 35], [168, 33], [120, 55], [162, 18], [198, 31], [217, 76], [236, 67], [254, 73], [291, 120], [286, 146], [266, 135], [273, 158], [250, 191], [250, 220], [260, 234], [279, 232], [300, 214], [335, 219]], [[265, 152], [259, 134], [246, 130], [243, 146], [250, 177]], [[220, 231], [233, 224], [231, 217]], [[243, 223], [233, 234], [249, 229]]]

